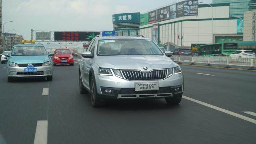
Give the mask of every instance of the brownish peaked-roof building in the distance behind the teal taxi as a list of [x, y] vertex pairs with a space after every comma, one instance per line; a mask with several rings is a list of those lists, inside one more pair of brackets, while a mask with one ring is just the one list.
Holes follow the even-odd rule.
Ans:
[[18, 34], [5, 33], [4, 36], [7, 39], [5, 41], [7, 50], [11, 50], [15, 44], [21, 44], [21, 40], [23, 39], [23, 37]]

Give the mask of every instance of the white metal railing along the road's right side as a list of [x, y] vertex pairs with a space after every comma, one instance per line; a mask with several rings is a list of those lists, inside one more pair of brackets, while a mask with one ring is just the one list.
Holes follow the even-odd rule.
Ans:
[[210, 64], [222, 64], [226, 65], [226, 68], [230, 68], [231, 65], [234, 66], [250, 66], [250, 69], [254, 70], [256, 67], [256, 58], [230, 58], [224, 56], [173, 56], [174, 61], [180, 64], [181, 62], [191, 62], [192, 65], [194, 63], [202, 63], [207, 64], [207, 66], [211, 66]]

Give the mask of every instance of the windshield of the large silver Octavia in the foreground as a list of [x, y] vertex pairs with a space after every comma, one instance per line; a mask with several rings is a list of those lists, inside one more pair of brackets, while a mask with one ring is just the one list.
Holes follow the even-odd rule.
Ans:
[[163, 55], [163, 53], [151, 40], [112, 39], [99, 40], [97, 55]]

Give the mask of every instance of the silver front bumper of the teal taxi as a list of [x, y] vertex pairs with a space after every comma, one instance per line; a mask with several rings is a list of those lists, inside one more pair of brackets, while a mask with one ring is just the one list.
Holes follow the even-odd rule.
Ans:
[[35, 67], [37, 72], [24, 72], [26, 67], [7, 67], [8, 77], [46, 77], [52, 76], [52, 66]]

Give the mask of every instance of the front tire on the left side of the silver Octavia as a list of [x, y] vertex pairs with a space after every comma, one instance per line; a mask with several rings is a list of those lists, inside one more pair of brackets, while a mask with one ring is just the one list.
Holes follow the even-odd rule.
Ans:
[[90, 100], [92, 107], [99, 107], [102, 105], [100, 99], [97, 97], [96, 82], [94, 76], [90, 79]]

